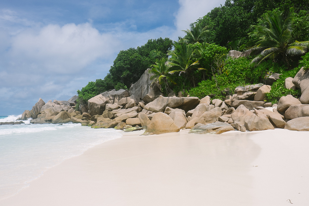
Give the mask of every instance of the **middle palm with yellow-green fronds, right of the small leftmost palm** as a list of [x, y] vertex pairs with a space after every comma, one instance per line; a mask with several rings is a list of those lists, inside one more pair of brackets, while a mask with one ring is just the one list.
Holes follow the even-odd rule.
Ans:
[[179, 42], [174, 41], [175, 49], [168, 51], [167, 55], [171, 56], [168, 60], [168, 65], [171, 66], [171, 71], [169, 74], [174, 74], [179, 72], [179, 76], [184, 74], [191, 82], [193, 87], [196, 86], [196, 81], [194, 77], [194, 71], [198, 68], [199, 61], [194, 57], [195, 50], [191, 47], [190, 44], [180, 44]]

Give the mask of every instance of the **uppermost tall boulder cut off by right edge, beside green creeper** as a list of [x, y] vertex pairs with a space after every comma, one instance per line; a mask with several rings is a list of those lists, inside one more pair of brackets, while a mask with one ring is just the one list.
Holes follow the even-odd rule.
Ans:
[[309, 104], [309, 69], [302, 67], [293, 78], [293, 83], [300, 88], [302, 95], [299, 100], [302, 104]]

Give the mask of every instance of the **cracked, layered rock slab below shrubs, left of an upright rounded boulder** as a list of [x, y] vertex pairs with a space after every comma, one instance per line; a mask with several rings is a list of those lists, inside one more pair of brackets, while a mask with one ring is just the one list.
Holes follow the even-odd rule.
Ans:
[[232, 96], [232, 101], [236, 100], [253, 100], [257, 90], [264, 84], [237, 86], [235, 88], [235, 95]]

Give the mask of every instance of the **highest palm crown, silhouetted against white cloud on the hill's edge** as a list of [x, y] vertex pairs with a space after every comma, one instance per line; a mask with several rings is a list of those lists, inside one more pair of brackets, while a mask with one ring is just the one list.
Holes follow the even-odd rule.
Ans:
[[187, 44], [194, 44], [196, 42], [202, 43], [205, 41], [205, 35], [208, 30], [201, 27], [200, 23], [191, 23], [190, 30], [181, 30], [186, 33], [184, 38], [179, 37], [179, 43], [187, 43]]

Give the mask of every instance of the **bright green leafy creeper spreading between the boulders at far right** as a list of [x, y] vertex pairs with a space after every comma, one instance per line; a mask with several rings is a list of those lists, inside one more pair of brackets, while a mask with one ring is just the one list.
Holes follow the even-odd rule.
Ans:
[[294, 78], [297, 72], [299, 71], [299, 67], [292, 69], [290, 71], [283, 71], [280, 75], [280, 78], [273, 83], [271, 86], [271, 90], [269, 93], [266, 94], [266, 97], [269, 102], [276, 104], [278, 103], [280, 97], [286, 96], [286, 95], [293, 95], [296, 98], [299, 98], [301, 95], [301, 91], [296, 89], [286, 89], [284, 88], [285, 79], [288, 77]]

